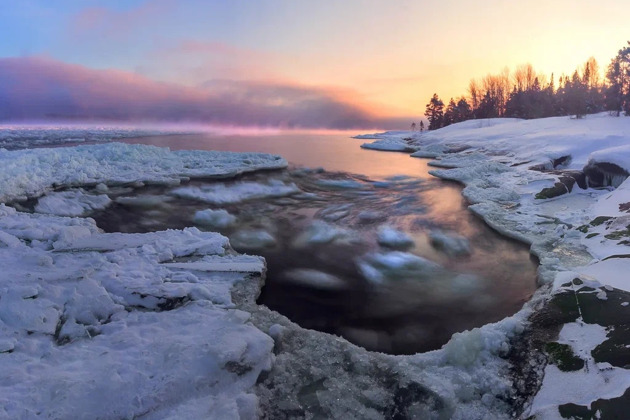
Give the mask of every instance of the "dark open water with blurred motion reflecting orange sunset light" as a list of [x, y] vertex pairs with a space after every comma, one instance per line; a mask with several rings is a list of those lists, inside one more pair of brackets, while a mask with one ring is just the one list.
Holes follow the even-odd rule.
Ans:
[[[431, 177], [425, 160], [364, 150], [361, 140], [340, 135], [178, 135], [127, 142], [287, 158], [287, 171], [221, 184], [230, 188], [273, 179], [295, 184], [299, 194], [217, 205], [174, 197], [172, 187], [149, 186], [119, 195], [164, 198], [159, 205], [116, 204], [93, 217], [106, 231], [146, 232], [191, 226], [199, 210], [227, 210], [237, 222], [218, 230], [236, 250], [267, 259], [260, 303], [306, 328], [343, 335], [370, 350], [409, 354], [439, 348], [454, 332], [515, 313], [535, 290], [536, 267], [527, 248], [468, 212], [461, 187]], [[216, 184], [193, 180], [186, 186]], [[408, 253], [440, 266], [401, 263], [397, 258], [409, 254], [394, 254], [377, 243], [384, 225], [413, 238]], [[470, 253], [453, 256], [435, 248], [430, 233], [436, 230], [465, 237]], [[327, 240], [308, 241], [309, 232]]]

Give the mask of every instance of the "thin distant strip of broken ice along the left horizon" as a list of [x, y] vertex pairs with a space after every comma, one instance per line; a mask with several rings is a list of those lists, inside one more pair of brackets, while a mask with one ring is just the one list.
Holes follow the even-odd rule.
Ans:
[[68, 143], [107, 142], [116, 139], [188, 134], [181, 130], [160, 130], [110, 125], [11, 125], [0, 124], [0, 148], [24, 149]]

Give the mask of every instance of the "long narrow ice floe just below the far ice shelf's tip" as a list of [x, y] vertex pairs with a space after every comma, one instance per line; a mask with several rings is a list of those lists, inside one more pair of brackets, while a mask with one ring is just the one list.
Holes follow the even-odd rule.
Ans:
[[201, 187], [182, 187], [171, 191], [171, 194], [210, 204], [234, 204], [247, 200], [284, 197], [299, 192], [300, 189], [293, 183], [285, 184], [279, 180], [271, 180], [267, 184], [237, 182], [234, 184], [220, 183]]

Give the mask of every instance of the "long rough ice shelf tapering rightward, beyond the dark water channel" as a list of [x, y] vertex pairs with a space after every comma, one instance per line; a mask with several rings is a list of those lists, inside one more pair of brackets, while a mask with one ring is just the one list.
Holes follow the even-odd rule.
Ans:
[[53, 186], [150, 182], [178, 184], [188, 178], [228, 178], [287, 166], [263, 153], [170, 151], [109, 143], [57, 149], [0, 149], [0, 202], [37, 197]]

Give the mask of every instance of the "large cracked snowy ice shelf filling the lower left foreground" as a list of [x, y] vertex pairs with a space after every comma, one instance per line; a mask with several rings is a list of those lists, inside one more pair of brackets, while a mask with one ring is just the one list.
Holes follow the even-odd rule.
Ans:
[[273, 343], [231, 292], [261, 258], [0, 205], [0, 265], [0, 417], [256, 416]]

